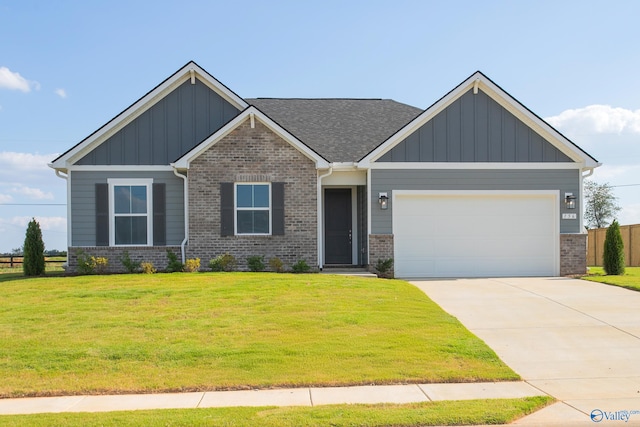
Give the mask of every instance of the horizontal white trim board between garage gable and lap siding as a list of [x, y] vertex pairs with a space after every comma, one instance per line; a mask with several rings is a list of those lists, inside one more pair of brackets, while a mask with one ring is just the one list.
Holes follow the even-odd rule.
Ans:
[[526, 162], [380, 162], [370, 163], [369, 169], [584, 169], [582, 163], [548, 162], [548, 163], [526, 163]]

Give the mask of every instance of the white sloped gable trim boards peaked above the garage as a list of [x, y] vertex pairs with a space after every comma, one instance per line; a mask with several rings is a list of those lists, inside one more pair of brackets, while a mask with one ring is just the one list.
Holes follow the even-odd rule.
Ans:
[[395, 147], [398, 143], [418, 130], [422, 125], [433, 119], [436, 115], [446, 109], [456, 99], [467, 93], [467, 91], [469, 91], [474, 86], [482, 90], [491, 99], [500, 104], [500, 106], [504, 107], [516, 118], [539, 133], [545, 140], [549, 141], [556, 148], [558, 148], [558, 150], [574, 160], [576, 164], [581, 165], [583, 168], [598, 167], [601, 165], [601, 163], [595, 162], [589, 155], [587, 155], [584, 151], [571, 143], [571, 141], [569, 141], [565, 136], [553, 129], [548, 123], [544, 122], [535, 114], [531, 113], [531, 111], [524, 108], [511, 95], [495, 85], [484, 74], [476, 72], [451, 92], [449, 92], [447, 95], [445, 95], [443, 98], [438, 100], [431, 107], [426, 109], [422, 114], [416, 117], [404, 128], [391, 136], [378, 148], [369, 153], [360, 161], [360, 166], [364, 168], [371, 167], [373, 165], [373, 162], [378, 160], [389, 150]]

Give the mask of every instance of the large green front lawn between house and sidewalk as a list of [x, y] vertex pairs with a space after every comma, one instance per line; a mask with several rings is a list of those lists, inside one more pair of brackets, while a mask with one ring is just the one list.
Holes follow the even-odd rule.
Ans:
[[399, 280], [269, 273], [0, 283], [0, 396], [518, 379]]

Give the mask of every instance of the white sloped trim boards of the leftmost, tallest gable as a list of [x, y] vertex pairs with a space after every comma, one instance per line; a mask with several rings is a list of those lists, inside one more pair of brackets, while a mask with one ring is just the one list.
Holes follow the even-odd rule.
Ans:
[[239, 110], [242, 110], [248, 106], [248, 104], [242, 98], [234, 94], [226, 86], [213, 78], [195, 62], [191, 61], [176, 73], [174, 73], [167, 80], [158, 85], [155, 89], [151, 90], [149, 93], [136, 101], [129, 108], [118, 114], [115, 118], [111, 119], [107, 124], [87, 137], [76, 147], [71, 149], [62, 157], [58, 158], [55, 162], [52, 162], [50, 164], [50, 167], [59, 170], [68, 169], [69, 166], [74, 162], [84, 157], [114, 133], [124, 128], [126, 125], [142, 115], [142, 113], [153, 107], [158, 101], [163, 99], [166, 95], [168, 95], [182, 83], [189, 80], [191, 78], [191, 70], [195, 72], [196, 78], [205, 83], [210, 89], [218, 93]]

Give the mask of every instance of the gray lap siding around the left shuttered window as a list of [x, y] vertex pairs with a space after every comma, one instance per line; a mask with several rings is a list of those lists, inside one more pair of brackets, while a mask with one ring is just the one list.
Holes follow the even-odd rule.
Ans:
[[179, 245], [184, 239], [184, 182], [173, 172], [71, 172], [71, 246], [96, 245], [96, 184], [108, 178], [152, 178], [166, 185], [166, 245]]

